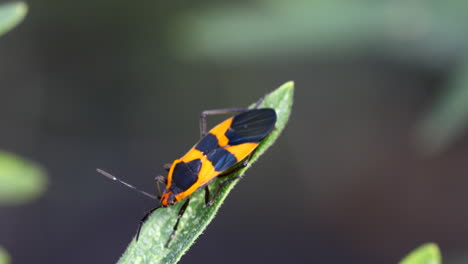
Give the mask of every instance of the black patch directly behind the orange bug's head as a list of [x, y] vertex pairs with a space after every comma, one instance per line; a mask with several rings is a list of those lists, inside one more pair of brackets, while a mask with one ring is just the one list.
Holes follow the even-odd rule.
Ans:
[[198, 179], [201, 160], [196, 159], [190, 162], [180, 162], [174, 167], [171, 190], [174, 194], [181, 193], [192, 186]]

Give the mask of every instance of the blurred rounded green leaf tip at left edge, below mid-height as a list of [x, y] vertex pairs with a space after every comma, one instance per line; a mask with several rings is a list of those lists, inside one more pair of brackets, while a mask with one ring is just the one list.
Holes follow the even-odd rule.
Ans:
[[47, 185], [44, 170], [37, 164], [0, 151], [0, 205], [29, 202]]

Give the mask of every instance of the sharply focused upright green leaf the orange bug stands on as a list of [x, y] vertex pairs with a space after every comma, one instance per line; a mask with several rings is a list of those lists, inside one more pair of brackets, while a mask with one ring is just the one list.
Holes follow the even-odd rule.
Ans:
[[[241, 169], [236, 175], [243, 175], [278, 138], [291, 113], [293, 93], [294, 83], [287, 82], [265, 97], [261, 107], [269, 107], [276, 110], [278, 117], [276, 129], [258, 146], [248, 166]], [[180, 221], [179, 230], [169, 248], [165, 248], [165, 243], [172, 232], [182, 203], [155, 211], [143, 225], [138, 242], [132, 240], [119, 263], [177, 263], [195, 239], [213, 220], [224, 199], [237, 182], [233, 181], [225, 186], [214, 204], [210, 207], [205, 207], [203, 191], [193, 194], [190, 199], [190, 205]], [[214, 184], [217, 183], [219, 182], [214, 181]]]

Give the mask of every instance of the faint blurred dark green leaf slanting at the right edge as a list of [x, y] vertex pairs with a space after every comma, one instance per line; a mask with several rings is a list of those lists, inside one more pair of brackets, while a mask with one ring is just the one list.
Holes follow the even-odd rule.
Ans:
[[430, 111], [417, 125], [415, 140], [425, 154], [445, 150], [468, 127], [468, 64], [453, 73], [446, 89], [435, 98]]

